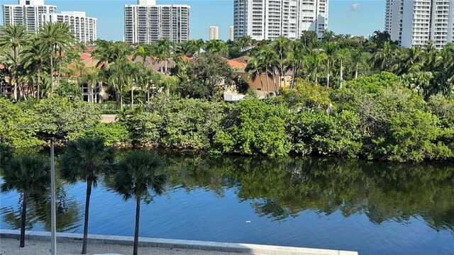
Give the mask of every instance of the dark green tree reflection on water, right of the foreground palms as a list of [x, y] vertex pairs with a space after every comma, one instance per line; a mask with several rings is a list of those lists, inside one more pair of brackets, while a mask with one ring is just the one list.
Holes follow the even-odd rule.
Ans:
[[386, 164], [338, 158], [172, 157], [170, 182], [237, 196], [272, 220], [303, 210], [344, 217], [364, 213], [371, 222], [420, 216], [434, 229], [454, 231], [454, 166]]

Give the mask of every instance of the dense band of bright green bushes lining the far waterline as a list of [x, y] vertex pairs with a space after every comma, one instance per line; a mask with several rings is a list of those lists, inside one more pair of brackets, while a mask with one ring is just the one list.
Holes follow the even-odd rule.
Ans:
[[160, 94], [150, 104], [99, 123], [99, 106], [53, 96], [11, 103], [0, 99], [1, 139], [13, 147], [47, 137], [104, 137], [106, 145], [197, 150], [210, 154], [360, 157], [397, 162], [453, 159], [454, 101], [427, 101], [395, 74], [360, 77], [343, 89], [299, 79], [276, 98], [237, 105]]

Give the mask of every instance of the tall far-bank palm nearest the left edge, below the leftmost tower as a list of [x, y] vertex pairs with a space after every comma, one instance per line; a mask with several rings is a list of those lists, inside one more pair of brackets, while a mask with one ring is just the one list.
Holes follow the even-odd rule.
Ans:
[[14, 84], [14, 101], [18, 100], [18, 81], [19, 81], [19, 57], [21, 47], [28, 44], [29, 35], [27, 34], [26, 28], [21, 25], [6, 24], [6, 26], [0, 29], [0, 48], [9, 48], [13, 52], [12, 56], [12, 70], [13, 80], [10, 84]]

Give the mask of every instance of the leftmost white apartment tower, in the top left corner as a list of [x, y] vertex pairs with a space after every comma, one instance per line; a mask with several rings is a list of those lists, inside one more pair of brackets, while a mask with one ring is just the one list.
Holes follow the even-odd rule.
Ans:
[[3, 23], [23, 25], [28, 33], [38, 33], [43, 25], [40, 14], [57, 13], [57, 6], [45, 5], [44, 0], [19, 0], [18, 4], [4, 4]]

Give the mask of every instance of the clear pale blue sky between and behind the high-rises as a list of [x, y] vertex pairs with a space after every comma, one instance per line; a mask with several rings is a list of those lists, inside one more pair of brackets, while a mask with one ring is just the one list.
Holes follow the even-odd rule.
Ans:
[[[1, 4], [17, 1], [0, 0]], [[105, 40], [123, 39], [123, 6], [135, 0], [45, 0], [61, 11], [85, 11], [98, 18], [98, 37]], [[368, 35], [384, 27], [384, 0], [330, 0], [328, 30], [334, 33]], [[191, 38], [208, 39], [209, 26], [219, 27], [219, 38], [228, 39], [228, 28], [233, 26], [233, 0], [172, 0], [157, 4], [188, 4], [191, 6]], [[1, 13], [0, 13], [1, 17]], [[0, 22], [3, 22], [1, 17]]]

